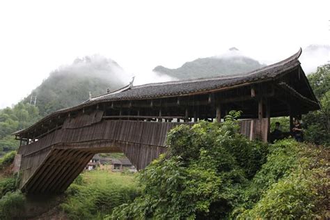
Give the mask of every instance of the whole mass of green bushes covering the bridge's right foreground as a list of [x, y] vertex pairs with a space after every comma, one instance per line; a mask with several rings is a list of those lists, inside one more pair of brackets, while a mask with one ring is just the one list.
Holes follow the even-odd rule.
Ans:
[[237, 123], [180, 125], [168, 155], [139, 173], [142, 194], [109, 219], [280, 219], [329, 215], [329, 152], [293, 140], [265, 146]]

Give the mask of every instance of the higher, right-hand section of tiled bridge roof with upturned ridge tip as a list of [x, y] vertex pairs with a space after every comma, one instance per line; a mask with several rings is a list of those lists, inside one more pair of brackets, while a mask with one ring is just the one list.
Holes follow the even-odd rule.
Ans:
[[84, 104], [100, 101], [140, 100], [178, 95], [191, 95], [205, 92], [209, 93], [210, 91], [233, 88], [234, 86], [251, 84], [256, 81], [269, 81], [275, 79], [281, 74], [285, 74], [285, 72], [297, 68], [297, 66], [300, 65], [300, 62], [298, 61], [300, 54], [301, 49], [299, 49], [299, 52], [283, 61], [272, 65], [267, 65], [251, 72], [232, 74], [230, 76], [189, 79], [183, 81], [167, 81], [163, 83], [133, 86], [132, 88], [120, 93], [100, 95], [89, 102], [85, 102]]

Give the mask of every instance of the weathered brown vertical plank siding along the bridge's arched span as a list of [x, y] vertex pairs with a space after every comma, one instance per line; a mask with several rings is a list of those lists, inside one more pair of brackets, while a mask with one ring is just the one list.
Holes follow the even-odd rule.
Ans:
[[[89, 120], [92, 120], [91, 118], [93, 117], [89, 117]], [[97, 152], [124, 152], [136, 168], [145, 168], [153, 159], [166, 152], [165, 141], [168, 130], [175, 125], [183, 124], [136, 120], [103, 120], [88, 124], [88, 117], [81, 116], [81, 121], [78, 119], [70, 120], [70, 123], [66, 123], [61, 129], [19, 148], [18, 154], [22, 156], [20, 167], [22, 189], [32, 192], [52, 191], [53, 188], [39, 188], [35, 185], [51, 184], [50, 182], [54, 184], [54, 181], [60, 181], [62, 177], [58, 176], [58, 180], [52, 178], [52, 181], [47, 182], [48, 179], [45, 180], [47, 177], [42, 173], [53, 173], [63, 168], [63, 164], [70, 164], [72, 168], [75, 167], [73, 169], [77, 169], [77, 172], [68, 170], [66, 175], [79, 175], [81, 167], [84, 168], [88, 163], [87, 158], [93, 157]], [[72, 150], [77, 154], [86, 154], [81, 159], [84, 164], [75, 162], [74, 155], [65, 156], [72, 153]], [[66, 159], [62, 161], [62, 157]], [[56, 175], [58, 173], [61, 171]], [[43, 182], [39, 182], [40, 178]], [[69, 176], [68, 181], [73, 181], [74, 178]], [[58, 182], [58, 184], [62, 183]], [[63, 186], [66, 185], [63, 183]], [[61, 189], [59, 187], [54, 190]]]

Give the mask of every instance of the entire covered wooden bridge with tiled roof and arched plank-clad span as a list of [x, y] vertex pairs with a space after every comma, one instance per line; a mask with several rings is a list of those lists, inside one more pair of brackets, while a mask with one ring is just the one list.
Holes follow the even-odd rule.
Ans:
[[180, 123], [217, 120], [241, 110], [241, 132], [267, 141], [269, 118], [319, 109], [297, 54], [253, 72], [133, 86], [61, 109], [16, 132], [20, 187], [57, 193], [97, 152], [124, 152], [145, 168], [166, 152], [166, 134]]

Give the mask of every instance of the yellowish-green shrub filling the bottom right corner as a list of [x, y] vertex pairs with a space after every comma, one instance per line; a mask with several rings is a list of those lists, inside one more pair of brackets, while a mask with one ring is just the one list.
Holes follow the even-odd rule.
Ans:
[[279, 141], [246, 189], [239, 219], [329, 218], [329, 151], [292, 140]]

